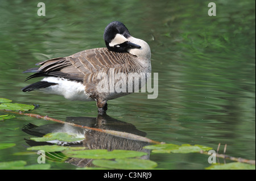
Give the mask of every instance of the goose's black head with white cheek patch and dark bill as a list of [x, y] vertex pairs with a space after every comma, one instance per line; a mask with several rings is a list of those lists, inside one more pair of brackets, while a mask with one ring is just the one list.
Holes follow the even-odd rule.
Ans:
[[127, 52], [128, 49], [141, 48], [127, 40], [130, 36], [130, 32], [123, 23], [117, 21], [109, 23], [104, 32], [106, 47], [114, 52]]

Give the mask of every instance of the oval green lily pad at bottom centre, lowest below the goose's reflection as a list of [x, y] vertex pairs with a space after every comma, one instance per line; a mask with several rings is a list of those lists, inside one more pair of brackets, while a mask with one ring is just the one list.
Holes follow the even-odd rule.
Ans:
[[111, 160], [96, 159], [93, 165], [106, 167], [109, 169], [122, 169], [122, 170], [141, 170], [141, 169], [153, 169], [158, 164], [148, 159], [137, 159], [137, 158], [125, 158]]

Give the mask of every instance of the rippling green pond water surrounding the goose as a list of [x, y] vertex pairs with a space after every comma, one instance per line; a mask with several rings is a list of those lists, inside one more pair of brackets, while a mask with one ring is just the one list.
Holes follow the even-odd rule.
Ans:
[[[22, 92], [36, 62], [105, 47], [104, 28], [123, 22], [132, 36], [151, 48], [152, 72], [158, 73], [158, 98], [134, 93], [110, 100], [108, 115], [133, 125], [152, 140], [200, 144], [226, 154], [255, 159], [255, 1], [35, 1], [0, 3], [0, 97], [15, 103], [40, 104], [33, 113], [56, 119], [97, 117], [95, 102], [72, 102], [57, 95]], [[1, 112], [1, 115], [5, 113]], [[48, 122], [16, 116], [1, 121], [0, 142], [16, 146], [0, 150], [0, 162], [37, 163], [26, 151], [23, 125]], [[204, 169], [201, 154], [151, 154], [163, 169]], [[221, 161], [223, 162], [223, 161]], [[75, 169], [51, 162], [52, 168]]]

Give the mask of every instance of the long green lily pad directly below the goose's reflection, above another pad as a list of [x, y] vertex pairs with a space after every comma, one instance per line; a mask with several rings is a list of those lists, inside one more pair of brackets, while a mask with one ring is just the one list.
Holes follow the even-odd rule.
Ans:
[[114, 158], [133, 158], [133, 157], [142, 157], [147, 153], [133, 150], [113, 150], [108, 151], [104, 149], [96, 150], [65, 150], [64, 154], [69, 157], [76, 158], [91, 158], [91, 159], [114, 159]]

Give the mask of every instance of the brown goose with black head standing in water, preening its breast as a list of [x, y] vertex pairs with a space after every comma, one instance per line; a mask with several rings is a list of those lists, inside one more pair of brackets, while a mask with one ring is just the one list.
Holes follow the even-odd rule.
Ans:
[[[98, 89], [100, 73], [110, 76], [111, 72], [150, 73], [150, 47], [130, 35], [121, 22], [109, 23], [105, 28], [104, 40], [107, 48], [83, 50], [68, 57], [52, 58], [23, 73], [34, 73], [26, 79], [44, 77], [22, 89], [23, 92], [40, 89], [48, 94], [63, 95], [71, 100], [96, 100], [98, 112], [108, 109], [107, 101], [131, 92], [102, 92]], [[135, 77], [138, 79], [138, 77]], [[127, 84], [127, 81], [125, 81]], [[144, 82], [140, 82], [143, 86]]]

